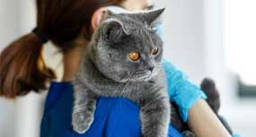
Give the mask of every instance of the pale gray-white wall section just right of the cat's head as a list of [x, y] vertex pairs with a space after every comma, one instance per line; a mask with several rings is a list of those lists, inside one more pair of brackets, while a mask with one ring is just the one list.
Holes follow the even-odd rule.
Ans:
[[161, 0], [165, 53], [173, 64], [199, 83], [206, 75], [203, 0]]

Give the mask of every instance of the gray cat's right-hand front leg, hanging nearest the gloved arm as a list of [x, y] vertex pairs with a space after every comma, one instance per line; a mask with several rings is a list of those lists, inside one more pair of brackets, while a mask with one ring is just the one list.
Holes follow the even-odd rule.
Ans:
[[155, 99], [140, 109], [143, 137], [167, 137], [171, 108], [168, 98]]

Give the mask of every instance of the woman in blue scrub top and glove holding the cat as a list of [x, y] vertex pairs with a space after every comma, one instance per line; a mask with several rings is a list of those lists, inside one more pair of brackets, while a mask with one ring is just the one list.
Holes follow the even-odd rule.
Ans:
[[[73, 87], [70, 81], [93, 30], [104, 18], [107, 5], [118, 5], [128, 11], [152, 7], [150, 0], [37, 0], [37, 28], [6, 47], [0, 56], [0, 95], [15, 98], [30, 90], [40, 92], [56, 77], [40, 55], [43, 44], [51, 40], [62, 49], [64, 76], [61, 82], [51, 82], [41, 124], [42, 137], [140, 136], [138, 107], [124, 98], [99, 98], [95, 120], [86, 133], [77, 134], [71, 127]], [[178, 104], [182, 119], [192, 131], [199, 137], [230, 136], [207, 106], [202, 91], [165, 60], [163, 67], [169, 74], [170, 98]], [[173, 85], [173, 81], [179, 86]], [[175, 132], [171, 125], [169, 136]]]

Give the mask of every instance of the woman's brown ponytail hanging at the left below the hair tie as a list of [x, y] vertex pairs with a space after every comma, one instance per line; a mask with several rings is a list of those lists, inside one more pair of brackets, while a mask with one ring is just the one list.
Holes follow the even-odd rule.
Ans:
[[0, 55], [0, 96], [15, 98], [31, 90], [46, 89], [55, 74], [46, 67], [41, 55], [43, 44], [34, 34], [17, 39]]

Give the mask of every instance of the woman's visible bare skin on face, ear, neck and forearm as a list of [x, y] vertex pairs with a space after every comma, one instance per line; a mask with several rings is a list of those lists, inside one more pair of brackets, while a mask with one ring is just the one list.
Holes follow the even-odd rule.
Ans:
[[[121, 7], [128, 11], [146, 10], [152, 8], [151, 0], [127, 0]], [[104, 8], [99, 9], [93, 14], [92, 28], [95, 29], [100, 19], [104, 16], [101, 12]], [[62, 81], [72, 81], [74, 73], [77, 71], [83, 49], [86, 47], [86, 41], [82, 36], [75, 39], [73, 49], [64, 53], [64, 76]], [[225, 127], [218, 120], [214, 112], [207, 105], [204, 99], [199, 99], [189, 110], [188, 124], [191, 130], [198, 137], [230, 137]]]

